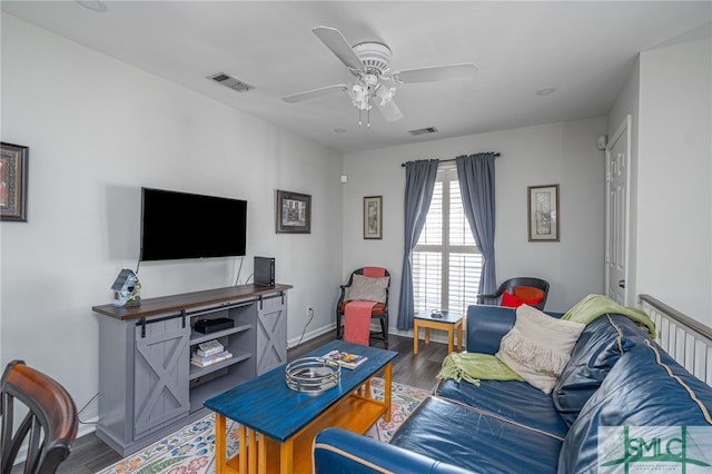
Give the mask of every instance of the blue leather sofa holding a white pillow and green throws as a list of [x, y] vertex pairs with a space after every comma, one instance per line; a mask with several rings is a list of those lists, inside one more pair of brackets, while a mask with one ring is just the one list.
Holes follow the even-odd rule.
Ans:
[[[469, 307], [467, 350], [496, 353], [514, 322], [511, 308]], [[704, 438], [692, 440], [694, 429]], [[552, 394], [525, 382], [443, 381], [389, 444], [328, 428], [315, 440], [314, 462], [323, 474], [633, 472], [665, 460], [685, 472], [680, 463], [712, 464], [704, 440], [712, 387], [631, 319], [606, 314], [586, 326]]]

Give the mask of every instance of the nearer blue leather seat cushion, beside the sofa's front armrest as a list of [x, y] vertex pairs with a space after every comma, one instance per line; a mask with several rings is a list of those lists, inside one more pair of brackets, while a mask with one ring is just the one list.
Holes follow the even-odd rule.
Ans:
[[552, 473], [562, 438], [428, 397], [390, 444], [473, 472]]

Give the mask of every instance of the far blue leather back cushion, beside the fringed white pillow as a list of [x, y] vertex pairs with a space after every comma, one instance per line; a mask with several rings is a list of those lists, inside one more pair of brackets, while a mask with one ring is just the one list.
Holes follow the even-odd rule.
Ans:
[[554, 407], [566, 425], [574, 423], [621, 354], [645, 339], [647, 335], [622, 315], [606, 314], [586, 326], [552, 391]]

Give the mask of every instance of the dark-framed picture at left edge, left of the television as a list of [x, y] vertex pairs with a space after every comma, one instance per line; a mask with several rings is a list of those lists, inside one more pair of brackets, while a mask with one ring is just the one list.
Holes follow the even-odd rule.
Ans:
[[28, 155], [28, 147], [0, 145], [0, 220], [27, 223]]

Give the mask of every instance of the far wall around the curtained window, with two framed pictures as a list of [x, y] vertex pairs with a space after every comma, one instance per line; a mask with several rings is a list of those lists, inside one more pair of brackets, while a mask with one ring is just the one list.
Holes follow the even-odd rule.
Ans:
[[[496, 160], [497, 280], [540, 276], [552, 285], [547, 309], [566, 310], [603, 292], [603, 117], [346, 154], [344, 277], [364, 265], [388, 267], [397, 308], [403, 267], [402, 162], [500, 151]], [[527, 186], [560, 185], [561, 241], [527, 241]], [[383, 240], [363, 239], [363, 198], [384, 197]], [[476, 288], [473, 289], [476, 293]], [[393, 318], [395, 326], [395, 318]]]

